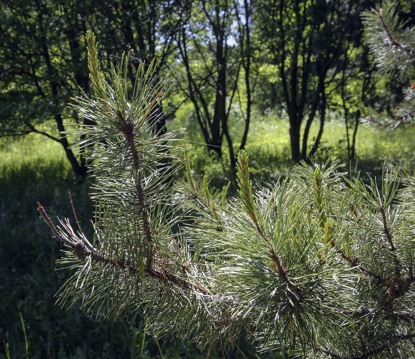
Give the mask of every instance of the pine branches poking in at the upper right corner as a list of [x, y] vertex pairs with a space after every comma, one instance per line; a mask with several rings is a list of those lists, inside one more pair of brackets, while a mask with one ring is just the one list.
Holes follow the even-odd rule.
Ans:
[[391, 129], [415, 119], [415, 26], [407, 27], [400, 22], [395, 3], [383, 1], [381, 7], [362, 14], [366, 40], [375, 56], [378, 68], [391, 74], [392, 80], [410, 82], [403, 90], [405, 101], [400, 103], [394, 114], [377, 114], [369, 109], [366, 121]]

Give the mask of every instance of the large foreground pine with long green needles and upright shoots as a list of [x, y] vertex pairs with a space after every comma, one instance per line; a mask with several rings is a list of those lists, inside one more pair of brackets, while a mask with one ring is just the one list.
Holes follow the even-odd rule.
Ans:
[[[252, 185], [238, 154], [238, 195], [192, 177], [171, 183], [186, 148], [182, 130], [157, 136], [149, 121], [165, 82], [128, 55], [107, 83], [87, 34], [92, 95], [74, 108], [96, 125], [75, 128], [95, 176], [94, 236], [76, 219], [52, 222], [75, 274], [58, 302], [93, 318], [141, 315], [153, 335], [183, 335], [201, 347], [238, 347], [305, 358], [407, 358], [415, 351], [415, 179], [399, 190], [400, 166], [365, 184], [341, 165], [295, 168]], [[132, 89], [132, 90], [131, 90]], [[75, 212], [75, 211], [74, 211]]]

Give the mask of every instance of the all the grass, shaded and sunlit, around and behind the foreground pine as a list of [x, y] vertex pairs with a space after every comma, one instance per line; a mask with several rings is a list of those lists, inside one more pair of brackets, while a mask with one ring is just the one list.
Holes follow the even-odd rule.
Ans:
[[[247, 142], [252, 173], [269, 181], [286, 176], [292, 168], [288, 141], [288, 121], [278, 114], [256, 114]], [[195, 122], [173, 122], [188, 126], [186, 141], [203, 142]], [[234, 124], [232, 131], [238, 136]], [[310, 138], [315, 136], [314, 127]], [[363, 172], [378, 174], [383, 158], [390, 165], [400, 158], [413, 158], [415, 126], [393, 132], [361, 126], [356, 153]], [[347, 162], [345, 129], [342, 121], [328, 121], [319, 161], [329, 155]], [[237, 147], [237, 143], [234, 144]], [[226, 150], [225, 150], [226, 151]], [[206, 174], [216, 186], [232, 178], [225, 160], [212, 160], [205, 146], [196, 144], [189, 152], [193, 170]], [[77, 308], [55, 306], [54, 294], [68, 273], [54, 271], [60, 244], [51, 238], [49, 228], [37, 213], [37, 201], [46, 206], [52, 218], [72, 218], [68, 192], [74, 199], [83, 230], [91, 228], [93, 206], [88, 183], [73, 176], [58, 143], [40, 136], [0, 139], [0, 359], [2, 358], [204, 358], [194, 344], [179, 338], [158, 340], [145, 332], [141, 321], [130, 329], [122, 320], [90, 321]], [[61, 277], [59, 277], [61, 276]], [[252, 347], [243, 349], [248, 357], [258, 357]], [[222, 357], [212, 351], [211, 358]], [[226, 358], [242, 357], [225, 352]], [[280, 358], [271, 353], [267, 358]]]

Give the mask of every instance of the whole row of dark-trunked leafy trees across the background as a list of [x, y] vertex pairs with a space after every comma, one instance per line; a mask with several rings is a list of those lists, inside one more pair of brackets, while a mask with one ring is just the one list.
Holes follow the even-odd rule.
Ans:
[[[86, 175], [83, 153], [73, 152], [74, 139], [62, 133], [66, 121], [84, 123], [67, 103], [78, 87], [88, 91], [84, 35], [91, 28], [103, 45], [103, 68], [130, 51], [133, 75], [140, 62], [154, 58], [157, 74], [174, 82], [165, 99], [171, 109], [158, 118], [157, 131], [181, 104], [191, 103], [188, 116], [197, 121], [208, 151], [217, 158], [225, 153], [235, 167], [252, 111], [277, 106], [289, 117], [293, 161], [307, 160], [320, 146], [329, 110], [353, 107], [345, 116], [358, 118], [356, 97], [362, 106], [370, 104], [367, 95], [376, 83], [359, 13], [372, 5], [354, 0], [2, 2], [0, 135], [46, 135], [62, 144], [74, 172]], [[162, 107], [154, 111], [162, 113]], [[310, 127], [317, 120], [312, 139]], [[52, 127], [43, 126], [45, 121]]]

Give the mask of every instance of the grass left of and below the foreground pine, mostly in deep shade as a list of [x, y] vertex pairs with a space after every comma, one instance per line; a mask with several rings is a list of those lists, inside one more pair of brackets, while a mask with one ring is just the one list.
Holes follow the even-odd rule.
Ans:
[[[54, 271], [60, 244], [39, 218], [37, 201], [52, 218], [72, 218], [71, 191], [88, 228], [93, 210], [88, 184], [73, 177], [58, 143], [26, 136], [3, 139], [0, 148], [0, 337], [5, 344], [0, 358], [6, 357], [6, 349], [10, 358], [139, 358], [141, 323], [130, 330], [122, 320], [92, 322], [77, 308], [66, 311], [54, 304], [63, 283]], [[162, 347], [167, 358], [178, 357], [180, 350], [177, 345]], [[149, 336], [142, 357], [161, 357]]]

